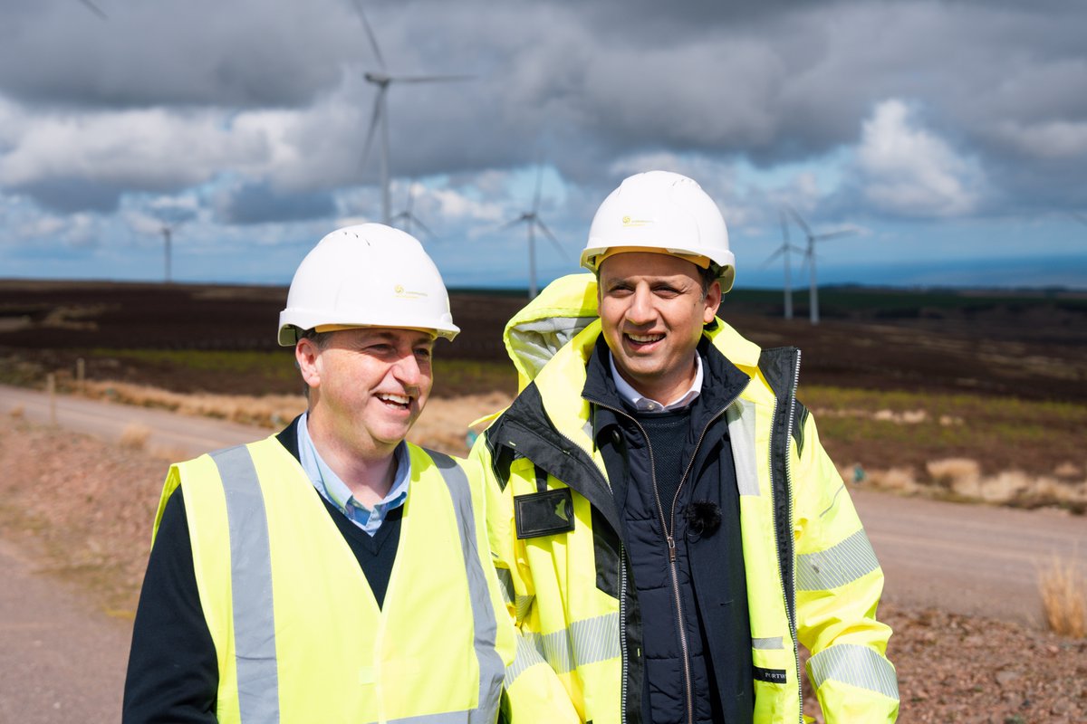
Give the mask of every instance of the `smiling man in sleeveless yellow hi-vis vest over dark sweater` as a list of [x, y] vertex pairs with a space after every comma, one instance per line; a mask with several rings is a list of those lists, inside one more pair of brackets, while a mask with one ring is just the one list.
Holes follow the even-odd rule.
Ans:
[[302, 261], [278, 336], [309, 409], [170, 469], [124, 721], [493, 724], [514, 637], [478, 475], [404, 442], [458, 331], [402, 231], [339, 229]]

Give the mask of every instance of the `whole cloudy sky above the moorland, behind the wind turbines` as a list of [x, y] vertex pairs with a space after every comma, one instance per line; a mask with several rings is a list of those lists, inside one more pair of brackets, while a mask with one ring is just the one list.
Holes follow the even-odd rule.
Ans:
[[[0, 278], [287, 283], [391, 204], [450, 285], [576, 270], [625, 176], [698, 180], [738, 287], [1087, 288], [1087, 3], [3, 0]], [[410, 199], [410, 202], [409, 202]], [[788, 232], [803, 244], [792, 220]], [[799, 258], [794, 257], [794, 272]]]

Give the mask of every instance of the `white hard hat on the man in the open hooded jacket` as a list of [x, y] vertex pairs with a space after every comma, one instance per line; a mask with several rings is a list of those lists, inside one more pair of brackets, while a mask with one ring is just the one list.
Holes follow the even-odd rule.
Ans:
[[717, 269], [721, 291], [733, 288], [736, 256], [713, 199], [694, 180], [665, 170], [636, 174], [604, 199], [592, 217], [582, 266], [597, 274], [612, 250], [664, 252]]

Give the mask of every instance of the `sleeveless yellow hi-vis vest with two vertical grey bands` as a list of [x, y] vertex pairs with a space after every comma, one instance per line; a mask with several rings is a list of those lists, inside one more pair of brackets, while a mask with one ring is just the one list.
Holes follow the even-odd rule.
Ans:
[[409, 444], [396, 562], [378, 608], [298, 460], [272, 436], [175, 465], [218, 660], [221, 722], [493, 724], [508, 622], [478, 478]]

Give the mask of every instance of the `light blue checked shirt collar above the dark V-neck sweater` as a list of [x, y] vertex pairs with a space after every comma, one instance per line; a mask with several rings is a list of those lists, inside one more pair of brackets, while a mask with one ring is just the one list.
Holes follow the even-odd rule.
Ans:
[[389, 494], [371, 510], [354, 499], [347, 483], [340, 480], [339, 475], [333, 472], [333, 469], [321, 459], [307, 428], [308, 419], [308, 415], [302, 412], [302, 417], [298, 421], [298, 455], [302, 470], [310, 477], [313, 486], [326, 500], [336, 506], [341, 513], [347, 516], [348, 520], [373, 537], [377, 529], [385, 522], [385, 517], [389, 511], [399, 508], [408, 499], [408, 481], [411, 480], [411, 456], [408, 455], [408, 444], [401, 441], [397, 445], [393, 453], [397, 473], [392, 480], [392, 487], [389, 488]]

